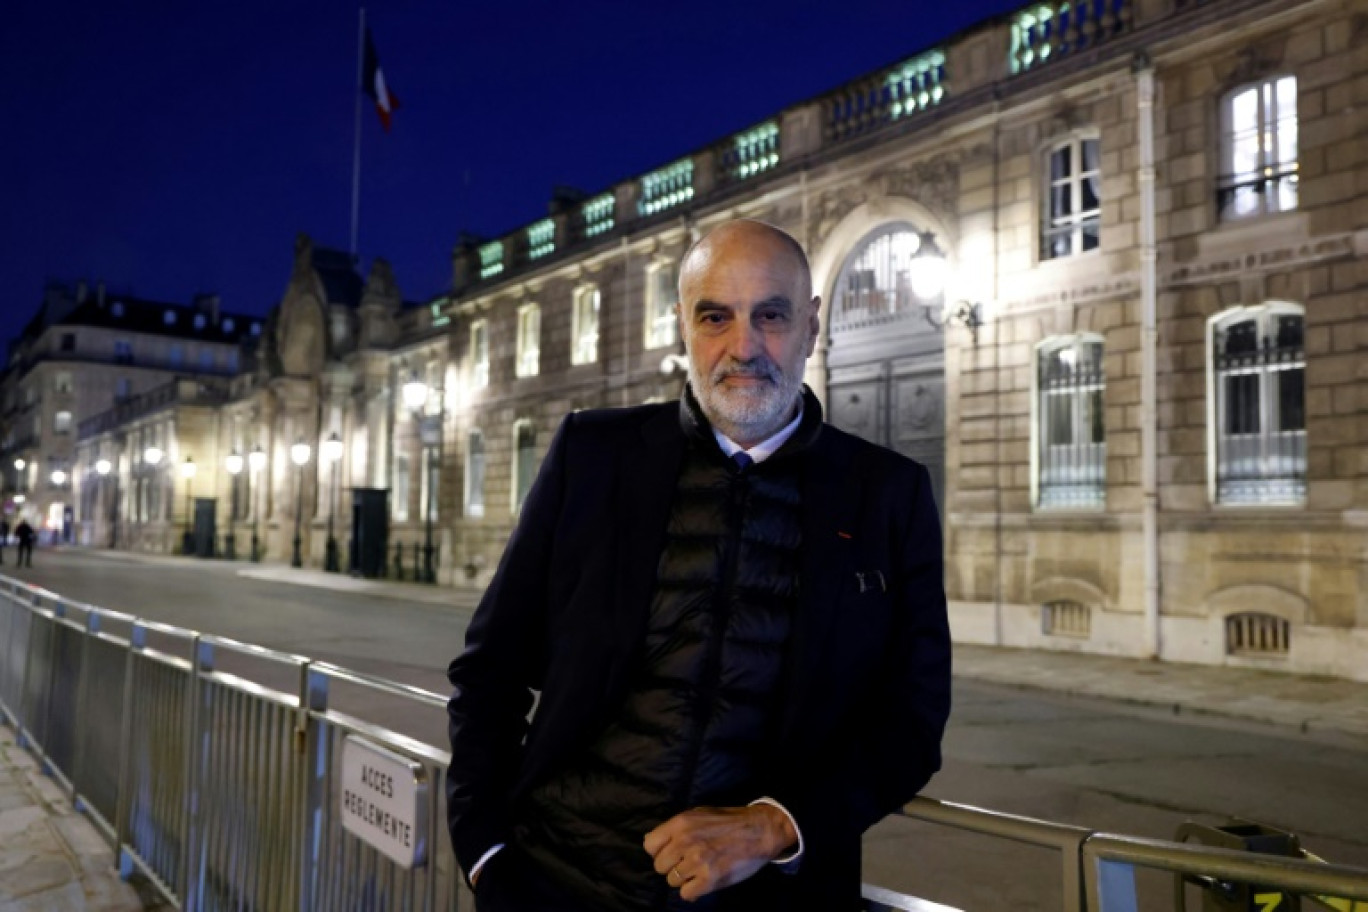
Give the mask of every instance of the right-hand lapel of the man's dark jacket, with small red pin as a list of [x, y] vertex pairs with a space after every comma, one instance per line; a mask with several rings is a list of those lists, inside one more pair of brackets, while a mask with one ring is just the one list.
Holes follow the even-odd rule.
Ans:
[[[818, 436], [803, 466], [803, 574], [798, 614], [785, 673], [784, 740], [800, 723], [808, 689], [840, 614], [840, 587], [851, 563], [850, 533], [855, 531], [859, 503], [859, 472], [844, 440], [826, 432]], [[841, 533], [845, 533], [843, 536]]]

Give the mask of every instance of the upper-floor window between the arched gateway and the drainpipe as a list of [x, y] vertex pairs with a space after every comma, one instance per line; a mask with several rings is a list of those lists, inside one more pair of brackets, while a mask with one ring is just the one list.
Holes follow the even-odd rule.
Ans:
[[1096, 250], [1101, 230], [1103, 175], [1096, 137], [1074, 137], [1049, 153], [1040, 258]]

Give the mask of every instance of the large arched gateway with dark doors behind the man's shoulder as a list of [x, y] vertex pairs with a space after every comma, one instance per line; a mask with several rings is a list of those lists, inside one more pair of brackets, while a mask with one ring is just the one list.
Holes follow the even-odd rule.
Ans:
[[919, 246], [917, 226], [893, 222], [845, 257], [828, 298], [826, 402], [836, 427], [926, 465], [944, 511], [943, 295], [912, 289]]

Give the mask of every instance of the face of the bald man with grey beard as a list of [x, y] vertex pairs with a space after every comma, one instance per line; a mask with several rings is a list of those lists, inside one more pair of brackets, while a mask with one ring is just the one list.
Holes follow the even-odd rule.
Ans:
[[793, 417], [819, 302], [773, 230], [726, 226], [705, 245], [680, 280], [689, 386], [713, 427], [751, 447]]

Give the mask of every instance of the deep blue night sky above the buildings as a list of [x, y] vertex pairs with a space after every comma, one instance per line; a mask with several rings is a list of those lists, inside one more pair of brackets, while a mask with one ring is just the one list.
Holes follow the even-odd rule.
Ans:
[[[364, 100], [363, 263], [428, 298], [461, 231], [524, 226], [555, 185], [605, 190], [1019, 5], [375, 1], [402, 107], [386, 134]], [[265, 313], [298, 231], [347, 246], [357, 5], [5, 7], [0, 342], [48, 278]]]

